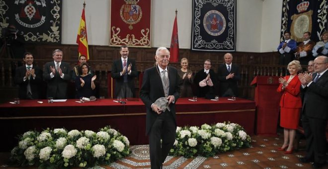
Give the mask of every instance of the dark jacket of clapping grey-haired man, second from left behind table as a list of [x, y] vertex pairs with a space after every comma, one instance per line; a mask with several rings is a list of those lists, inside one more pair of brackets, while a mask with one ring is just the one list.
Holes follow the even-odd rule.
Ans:
[[54, 99], [67, 99], [67, 84], [71, 80], [70, 65], [63, 61], [60, 65], [64, 74], [64, 79], [59, 76], [58, 72], [56, 72], [54, 78], [51, 78], [50, 66], [56, 68], [54, 61], [46, 63], [43, 70], [43, 80], [47, 82], [47, 97], [53, 97]]

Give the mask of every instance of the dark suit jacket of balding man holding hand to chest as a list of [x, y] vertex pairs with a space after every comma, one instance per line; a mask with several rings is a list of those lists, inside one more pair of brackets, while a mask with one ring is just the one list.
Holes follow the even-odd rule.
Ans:
[[220, 82], [220, 96], [222, 96], [228, 90], [228, 88], [231, 88], [235, 96], [238, 96], [238, 81], [241, 80], [239, 66], [233, 63], [231, 65], [230, 73], [235, 73], [235, 77], [233, 79], [226, 79], [226, 77], [229, 75], [226, 64], [219, 66], [218, 79]]

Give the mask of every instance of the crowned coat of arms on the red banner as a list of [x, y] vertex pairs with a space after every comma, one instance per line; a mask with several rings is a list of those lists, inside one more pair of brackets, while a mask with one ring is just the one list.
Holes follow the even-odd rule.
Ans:
[[126, 4], [121, 6], [120, 16], [122, 20], [129, 24], [129, 29], [133, 29], [133, 24], [136, 24], [142, 18], [142, 10], [139, 5], [137, 5], [139, 0], [124, 0]]

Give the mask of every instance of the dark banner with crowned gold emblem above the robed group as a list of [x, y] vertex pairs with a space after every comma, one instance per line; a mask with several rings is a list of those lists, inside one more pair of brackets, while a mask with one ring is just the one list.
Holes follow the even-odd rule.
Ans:
[[311, 40], [320, 41], [327, 30], [327, 6], [327, 0], [283, 0], [281, 41], [286, 31], [297, 42], [303, 42], [304, 32], [311, 32]]

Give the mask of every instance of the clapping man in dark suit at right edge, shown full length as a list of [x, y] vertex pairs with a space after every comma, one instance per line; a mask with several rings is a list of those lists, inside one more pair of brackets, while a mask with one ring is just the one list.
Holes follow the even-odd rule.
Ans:
[[299, 74], [304, 92], [302, 125], [306, 141], [306, 156], [302, 163], [310, 163], [313, 168], [326, 164], [326, 126], [328, 119], [328, 57], [319, 56], [314, 60], [315, 72]]

